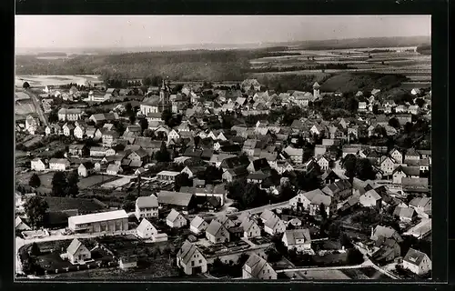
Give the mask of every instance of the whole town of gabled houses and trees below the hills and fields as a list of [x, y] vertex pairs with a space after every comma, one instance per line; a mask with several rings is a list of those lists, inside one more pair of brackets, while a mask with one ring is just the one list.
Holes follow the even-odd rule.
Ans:
[[16, 276], [430, 278], [430, 88], [311, 87], [16, 87]]

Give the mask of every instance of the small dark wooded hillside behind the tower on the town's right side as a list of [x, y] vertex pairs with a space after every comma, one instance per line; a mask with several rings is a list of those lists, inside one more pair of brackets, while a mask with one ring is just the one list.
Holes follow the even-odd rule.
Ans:
[[342, 73], [332, 75], [321, 85], [321, 92], [356, 93], [372, 89], [389, 90], [398, 87], [408, 78], [404, 75], [378, 73]]

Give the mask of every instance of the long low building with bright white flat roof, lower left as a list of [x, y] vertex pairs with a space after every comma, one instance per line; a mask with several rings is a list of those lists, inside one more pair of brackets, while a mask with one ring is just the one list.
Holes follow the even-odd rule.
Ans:
[[116, 210], [68, 217], [68, 227], [74, 232], [99, 233], [128, 230], [125, 210]]

